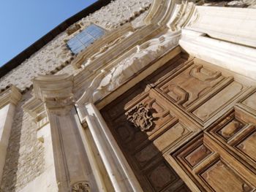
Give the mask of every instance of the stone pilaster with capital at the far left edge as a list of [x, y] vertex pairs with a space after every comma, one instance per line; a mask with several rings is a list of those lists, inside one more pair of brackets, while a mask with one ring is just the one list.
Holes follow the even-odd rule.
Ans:
[[9, 143], [15, 105], [20, 101], [21, 94], [15, 86], [0, 95], [0, 183]]

